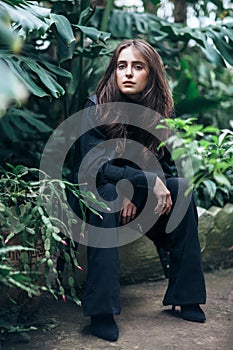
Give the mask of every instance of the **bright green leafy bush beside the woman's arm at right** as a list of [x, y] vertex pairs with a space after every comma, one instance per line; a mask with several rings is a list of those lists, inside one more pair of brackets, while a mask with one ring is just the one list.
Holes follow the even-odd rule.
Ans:
[[[172, 157], [191, 178], [197, 203], [209, 208], [233, 201], [233, 132], [204, 127], [195, 118], [168, 119]], [[163, 126], [159, 126], [163, 127]]]

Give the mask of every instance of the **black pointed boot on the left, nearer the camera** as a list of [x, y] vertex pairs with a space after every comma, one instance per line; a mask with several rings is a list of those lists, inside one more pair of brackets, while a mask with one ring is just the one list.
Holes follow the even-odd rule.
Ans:
[[113, 315], [91, 316], [91, 330], [93, 335], [109, 341], [116, 341], [119, 336], [119, 330]]

